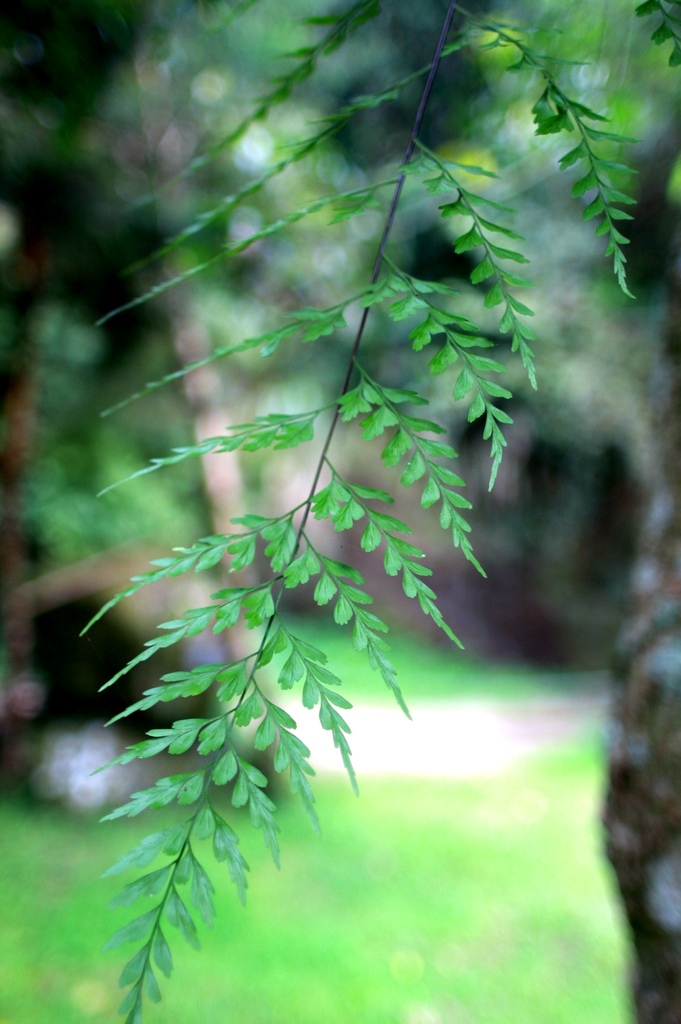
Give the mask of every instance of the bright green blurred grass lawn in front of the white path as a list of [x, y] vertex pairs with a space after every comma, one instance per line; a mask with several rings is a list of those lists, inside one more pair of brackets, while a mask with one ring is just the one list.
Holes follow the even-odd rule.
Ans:
[[[625, 1024], [600, 772], [585, 741], [491, 779], [360, 780], [358, 800], [320, 780], [321, 838], [282, 801], [281, 872], [240, 819], [248, 905], [209, 864], [215, 929], [201, 953], [175, 933], [145, 1021]], [[98, 874], [146, 824], [0, 804], [0, 1024], [117, 1019], [134, 947], [99, 952], [127, 919], [105, 909], [116, 880]]]

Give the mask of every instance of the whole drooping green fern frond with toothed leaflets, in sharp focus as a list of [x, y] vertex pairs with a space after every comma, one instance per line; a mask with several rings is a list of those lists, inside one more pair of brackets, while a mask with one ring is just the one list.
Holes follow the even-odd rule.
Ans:
[[[241, 6], [250, 7], [251, 4]], [[639, 13], [651, 12], [652, 7], [663, 12], [664, 24], [669, 26], [665, 31], [675, 32], [677, 23], [666, 9], [663, 10], [662, 5], [644, 4], [645, 9], [639, 8]], [[461, 28], [451, 34], [451, 25], [457, 12], [461, 17]], [[253, 114], [240, 123], [224, 144], [238, 141], [257, 119], [286, 102], [296, 85], [306, 81], [329, 53], [336, 50], [350, 34], [364, 31], [379, 13], [376, 0], [360, 0], [341, 14], [308, 18], [312, 41], [292, 54], [292, 70], [274, 82]], [[477, 166], [448, 160], [436, 148], [419, 140], [421, 121], [442, 59], [456, 60], [466, 47], [496, 49], [503, 55], [510, 55], [508, 72], [527, 76], [536, 134], [553, 136], [567, 133], [569, 145], [560, 157], [560, 167], [566, 170], [577, 166], [580, 169], [580, 176], [571, 186], [572, 195], [580, 203], [584, 196], [589, 195], [590, 202], [586, 206], [583, 204], [582, 215], [588, 220], [597, 218], [595, 233], [605, 237], [605, 253], [612, 257], [621, 288], [630, 294], [623, 250], [627, 239], [616, 226], [619, 221], [630, 219], [630, 214], [622, 207], [629, 206], [633, 200], [622, 190], [620, 183], [629, 173], [629, 168], [613, 159], [611, 152], [629, 139], [603, 130], [602, 124], [606, 119], [574, 98], [569, 87], [562, 84], [563, 66], [570, 62], [546, 56], [530, 45], [530, 39], [531, 33], [523, 33], [506, 24], [457, 8], [453, 0], [435, 55], [428, 67], [379, 92], [361, 96], [327, 118], [311, 137], [289, 146], [284, 158], [259, 178], [203, 215], [156, 255], [166, 256], [179, 249], [198, 231], [263, 191], [294, 164], [320, 151], [353, 118], [392, 101], [415, 79], [425, 78], [411, 137], [394, 175], [358, 188], [317, 198], [248, 237], [226, 245], [209, 259], [182, 270], [132, 303], [147, 301], [210, 266], [232, 260], [261, 240], [285, 231], [321, 211], [331, 211], [332, 221], [344, 222], [360, 216], [368, 208], [381, 208], [383, 203], [387, 205], [373, 272], [368, 274], [365, 287], [324, 308], [304, 306], [289, 311], [283, 316], [281, 326], [218, 349], [206, 359], [189, 364], [177, 374], [147, 385], [134, 396], [154, 390], [207, 361], [240, 352], [253, 350], [272, 357], [296, 339], [303, 344], [325, 339], [328, 344], [330, 337], [346, 328], [346, 314], [350, 307], [361, 310], [347, 354], [344, 377], [341, 374], [332, 401], [314, 409], [256, 417], [252, 422], [235, 425], [220, 436], [176, 449], [171, 455], [155, 460], [133, 474], [139, 476], [209, 452], [290, 450], [312, 441], [315, 432], [320, 434], [321, 454], [315, 460], [308, 495], [303, 501], [275, 515], [239, 515], [232, 519], [233, 531], [202, 538], [168, 558], [156, 561], [151, 571], [134, 578], [130, 587], [110, 601], [93, 620], [96, 621], [113, 604], [139, 588], [164, 578], [179, 577], [189, 571], [208, 571], [224, 560], [230, 572], [252, 570], [258, 552], [262, 552], [268, 562], [268, 574], [263, 579], [247, 580], [220, 589], [213, 595], [210, 605], [189, 608], [180, 616], [162, 623], [162, 632], [147, 641], [143, 651], [105, 684], [113, 685], [158, 650], [205, 631], [219, 634], [243, 623], [253, 636], [251, 649], [243, 656], [225, 664], [201, 665], [190, 671], [166, 675], [159, 686], [148, 689], [140, 700], [117, 716], [121, 719], [137, 710], [147, 710], [159, 701], [196, 696], [209, 690], [220, 702], [220, 710], [210, 718], [180, 719], [171, 728], [151, 730], [146, 739], [130, 746], [113, 762], [124, 764], [162, 752], [171, 755], [195, 752], [201, 759], [198, 769], [159, 779], [154, 786], [133, 794], [127, 804], [107, 816], [109, 819], [133, 817], [142, 811], [174, 802], [190, 808], [181, 823], [147, 836], [108, 872], [145, 869], [157, 857], [166, 858], [161, 867], [146, 871], [129, 883], [115, 900], [116, 904], [132, 905], [140, 898], [154, 898], [152, 909], [122, 928], [108, 944], [111, 948], [126, 942], [140, 943], [121, 977], [122, 986], [129, 987], [121, 1007], [128, 1024], [137, 1024], [141, 1020], [144, 993], [153, 1000], [160, 997], [156, 972], [165, 975], [171, 972], [169, 928], [178, 929], [184, 939], [196, 946], [197, 931], [189, 906], [196, 908], [208, 925], [213, 921], [213, 885], [200, 859], [200, 852], [206, 844], [212, 845], [212, 852], [218, 861], [226, 863], [240, 898], [245, 899], [248, 865], [240, 852], [238, 836], [223, 816], [221, 804], [218, 809], [216, 794], [230, 786], [232, 806], [248, 808], [252, 825], [261, 830], [264, 843], [278, 861], [279, 826], [274, 805], [264, 793], [267, 779], [239, 753], [235, 736], [240, 729], [257, 723], [256, 749], [273, 751], [274, 769], [278, 772], [288, 771], [292, 791], [300, 797], [313, 825], [317, 826], [310, 784], [313, 770], [308, 760], [309, 751], [296, 735], [296, 723], [289, 711], [281, 707], [263, 685], [263, 674], [269, 674], [269, 678], [273, 675], [282, 691], [298, 688], [302, 703], [308, 709], [318, 709], [321, 724], [333, 736], [352, 785], [356, 787], [347, 738], [349, 726], [344, 717], [350, 703], [339, 692], [341, 680], [327, 668], [325, 652], [299, 636], [295, 626], [291, 625], [286, 611], [287, 593], [299, 587], [313, 587], [314, 601], [320, 606], [333, 607], [333, 617], [339, 626], [351, 624], [354, 647], [366, 652], [372, 668], [380, 673], [397, 702], [409, 714], [387, 653], [384, 636], [388, 627], [371, 608], [373, 599], [366, 589], [364, 577], [351, 564], [325, 552], [324, 546], [308, 529], [310, 516], [329, 520], [334, 530], [339, 532], [353, 528], [360, 530], [359, 543], [364, 551], [381, 552], [385, 572], [389, 577], [400, 578], [407, 596], [415, 600], [422, 612], [451, 640], [459, 643], [437, 606], [435, 592], [427, 582], [432, 572], [424, 564], [425, 552], [408, 539], [412, 532], [410, 524], [390, 512], [392, 496], [384, 489], [348, 478], [334, 460], [331, 442], [341, 425], [347, 425], [349, 430], [356, 430], [358, 426], [365, 441], [381, 438], [380, 458], [383, 465], [395, 472], [402, 486], [415, 486], [420, 490], [422, 508], [437, 510], [439, 524], [451, 532], [455, 548], [460, 549], [464, 557], [482, 572], [473, 552], [470, 528], [465, 518], [470, 505], [462, 493], [464, 481], [452, 468], [457, 453], [443, 439], [445, 428], [422, 415], [428, 404], [423, 389], [417, 390], [416, 385], [387, 385], [361, 357], [365, 327], [372, 310], [385, 310], [394, 324], [410, 321], [409, 339], [416, 353], [412, 379], [419, 381], [428, 373], [446, 374], [452, 378], [454, 400], [465, 403], [469, 422], [480, 420], [483, 424], [483, 437], [490, 442], [492, 458], [490, 486], [494, 484], [506, 444], [504, 430], [511, 423], [503, 406], [511, 397], [511, 392], [499, 383], [499, 375], [505, 371], [505, 366], [496, 357], [497, 350], [506, 347], [517, 354], [531, 385], [536, 384], [533, 351], [536, 339], [528, 326], [533, 310], [518, 297], [524, 294], [522, 290], [530, 287], [531, 282], [510, 268], [528, 260], [518, 248], [522, 239], [512, 226], [513, 210], [493, 198], [494, 191], [486, 187], [495, 175]], [[196, 167], [206, 166], [222, 147], [222, 144], [214, 147]], [[475, 178], [485, 187], [474, 188], [470, 182]], [[457, 307], [457, 289], [442, 281], [418, 279], [400, 266], [396, 257], [388, 254], [397, 204], [406, 187], [412, 195], [425, 195], [429, 202], [438, 205], [441, 216], [452, 223], [457, 254], [474, 254], [476, 262], [470, 272], [470, 282], [479, 296], [484, 326], [479, 326]], [[391, 199], [384, 199], [389, 189], [392, 189]], [[490, 326], [490, 311], [499, 314], [496, 327]], [[428, 346], [434, 354], [424, 365], [419, 353]]]

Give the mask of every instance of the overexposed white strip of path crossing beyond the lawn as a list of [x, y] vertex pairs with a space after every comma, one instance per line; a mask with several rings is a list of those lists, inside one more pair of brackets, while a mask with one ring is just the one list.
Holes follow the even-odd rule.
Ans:
[[[503, 771], [533, 751], [602, 729], [604, 694], [515, 701], [418, 703], [413, 721], [397, 708], [359, 706], [343, 712], [352, 732], [352, 763], [361, 775], [466, 778]], [[329, 733], [314, 712], [291, 713], [320, 773], [344, 772]]]

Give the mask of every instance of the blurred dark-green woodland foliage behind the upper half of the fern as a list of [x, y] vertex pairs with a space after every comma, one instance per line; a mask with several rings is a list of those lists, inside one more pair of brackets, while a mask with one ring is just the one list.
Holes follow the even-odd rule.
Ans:
[[[301, 16], [317, 12], [315, 5], [299, 7]], [[488, 4], [482, 9], [492, 10]], [[427, 539], [441, 563], [450, 618], [474, 649], [601, 667], [623, 606], [652, 443], [644, 382], [680, 195], [677, 98], [672, 70], [649, 45], [647, 26], [628, 16], [626, 3], [582, 3], [569, 12], [551, 2], [511, 5], [512, 15], [541, 27], [547, 49], [550, 44], [553, 52], [586, 60], [565, 68], [570, 87], [603, 106], [613, 128], [640, 139], [628, 155], [641, 172], [630, 247], [638, 301], [619, 295], [591, 225], [580, 220], [566, 175], [557, 170], [560, 143], [550, 137], [540, 145], [534, 137], [524, 78], [505, 73], [502, 50], [450, 57], [424, 139], [497, 171], [504, 197], [519, 210], [538, 284], [541, 387], [534, 394], [509, 358], [515, 427], [490, 495], [477, 428], [455, 407], [449, 411], [449, 392], [438, 378], [430, 381], [431, 402], [437, 412], [448, 408], [461, 451], [476, 549], [492, 586], [481, 591], [436, 530]], [[264, 0], [241, 17], [215, 3], [178, 8], [103, 0], [79, 0], [58, 12], [18, 4], [2, 16], [0, 99], [7, 130], [0, 177], [0, 373], [7, 393], [30, 365], [32, 393], [23, 571], [25, 580], [36, 579], [83, 565], [61, 593], [55, 580], [49, 596], [46, 582], [36, 584], [38, 610], [63, 608], [73, 594], [99, 600], [102, 577], [110, 588], [125, 579], [129, 563], [117, 561], [121, 546], [146, 542], [158, 553], [186, 544], [243, 506], [283, 506], [286, 487], [302, 486], [297, 467], [278, 470], [263, 456], [235, 459], [230, 468], [215, 468], [215, 460], [203, 468], [183, 464], [95, 497], [197, 433], [332, 394], [347, 350], [342, 336], [282, 347], [264, 360], [232, 356], [224, 372], [214, 365], [124, 412], [99, 414], [147, 380], [271, 329], [282, 310], [326, 305], [363, 284], [379, 210], [333, 225], [328, 214], [307, 218], [190, 284], [103, 327], [93, 325], [148, 287], [210, 259], [225, 241], [330, 189], [390, 173], [418, 83], [396, 102], [354, 119], [270, 189], [254, 191], [226, 216], [206, 216], [267, 173], [320, 118], [357, 92], [423, 66], [438, 17], [434, 2], [418, 13], [410, 4], [390, 4], [376, 31], [351, 36], [318, 61], [318, 74], [293, 90], [285, 116], [254, 121], [230, 148], [222, 140], [267, 91], [263, 83], [290, 70], [291, 58], [281, 54], [310, 34], [295, 17], [272, 16]], [[75, 63], [72, 52], [81, 55]], [[122, 276], [202, 216], [204, 228], [181, 247]], [[408, 195], [395, 251], [412, 272], [457, 283], [465, 311], [469, 264], [453, 253], [446, 230], [436, 211]], [[399, 384], [413, 367], [396, 331], [374, 317], [367, 358]], [[5, 443], [16, 442], [7, 435]], [[353, 459], [350, 445], [345, 461]], [[111, 553], [108, 570], [90, 572], [83, 560], [103, 553]], [[144, 560], [144, 552], [132, 557], [136, 565]], [[38, 662], [49, 685], [49, 655], [40, 652]]]

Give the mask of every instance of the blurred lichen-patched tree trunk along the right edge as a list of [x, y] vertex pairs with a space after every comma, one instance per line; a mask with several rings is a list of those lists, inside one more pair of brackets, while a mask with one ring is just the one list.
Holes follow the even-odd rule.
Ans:
[[607, 852], [639, 1024], [681, 1022], [681, 253], [653, 378], [655, 465], [615, 667]]

